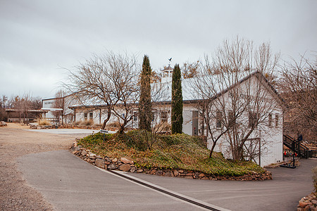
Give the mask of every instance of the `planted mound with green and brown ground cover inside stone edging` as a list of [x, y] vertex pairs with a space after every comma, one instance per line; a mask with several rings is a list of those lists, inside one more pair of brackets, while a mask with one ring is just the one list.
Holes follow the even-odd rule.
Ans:
[[[209, 158], [209, 150], [199, 136], [158, 135], [154, 140], [149, 132], [134, 130], [123, 135], [97, 133], [80, 139], [77, 144], [103, 157], [128, 158], [138, 168], [188, 170], [224, 176], [265, 172], [254, 162], [226, 160], [221, 153], [213, 153]], [[154, 143], [149, 149], [151, 142]]]

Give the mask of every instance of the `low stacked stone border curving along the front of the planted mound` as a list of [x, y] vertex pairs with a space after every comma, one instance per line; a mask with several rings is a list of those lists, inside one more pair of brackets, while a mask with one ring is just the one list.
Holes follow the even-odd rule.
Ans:
[[82, 158], [83, 160], [95, 165], [104, 170], [120, 170], [123, 172], [135, 172], [135, 173], [145, 173], [154, 174], [164, 177], [182, 177], [187, 179], [206, 179], [206, 180], [239, 180], [239, 181], [259, 181], [259, 180], [270, 180], [272, 179], [271, 172], [264, 172], [263, 174], [258, 174], [256, 172], [251, 172], [249, 174], [244, 174], [242, 176], [229, 176], [229, 175], [214, 175], [206, 174], [204, 172], [197, 172], [192, 170], [181, 170], [181, 169], [162, 169], [158, 167], [136, 167], [132, 160], [127, 158], [108, 158], [102, 157], [92, 153], [87, 148], [82, 146], [77, 146], [77, 141], [70, 146], [70, 150], [73, 151], [74, 155]]

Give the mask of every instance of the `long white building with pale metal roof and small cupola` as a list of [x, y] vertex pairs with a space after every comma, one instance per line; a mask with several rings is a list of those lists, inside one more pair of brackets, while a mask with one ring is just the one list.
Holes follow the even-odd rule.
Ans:
[[[173, 68], [166, 68], [162, 73], [161, 83], [152, 84], [152, 89], [161, 89], [160, 96], [153, 100], [152, 106], [152, 121], [156, 124], [158, 122], [170, 123], [170, 98], [171, 98], [171, 79], [173, 74]], [[266, 101], [263, 108], [258, 108], [258, 111], [253, 113], [243, 111], [237, 115], [236, 118], [232, 118], [232, 109], [230, 106], [220, 107], [218, 103], [213, 103], [210, 109], [209, 125], [204, 120], [204, 115], [197, 106], [198, 103], [206, 101], [204, 94], [199, 93], [199, 89], [203, 86], [199, 82], [194, 82], [195, 79], [182, 79], [182, 96], [183, 96], [183, 132], [194, 136], [207, 136], [207, 147], [211, 149], [213, 146], [213, 139], [211, 139], [208, 129], [213, 132], [214, 136], [221, 134], [225, 127], [225, 121], [223, 117], [227, 117], [227, 123], [234, 120], [235, 124], [242, 125], [239, 129], [244, 129], [244, 132], [240, 132], [240, 135], [245, 135], [249, 129], [254, 126], [251, 134], [247, 136], [247, 140], [243, 144], [244, 158], [253, 160], [261, 166], [271, 164], [273, 162], [282, 161], [282, 119], [283, 119], [283, 103], [278, 93], [273, 89], [271, 84], [268, 83], [265, 77], [259, 72], [246, 72], [240, 75], [240, 79], [230, 86], [218, 87], [213, 89], [214, 93], [210, 94], [210, 99], [216, 102], [221, 100], [225, 105], [232, 104], [232, 89], [236, 87], [242, 88], [239, 98], [244, 99], [249, 96], [253, 96], [250, 102]], [[214, 79], [211, 79], [210, 84], [213, 84]], [[196, 83], [196, 84], [195, 84]], [[204, 85], [206, 86], [206, 84]], [[158, 88], [159, 87], [159, 88]], [[249, 87], [249, 91], [247, 88]], [[260, 88], [259, 88], [260, 87]], [[199, 88], [199, 89], [196, 89]], [[261, 89], [265, 98], [256, 98], [254, 93], [256, 90]], [[44, 100], [43, 103], [51, 103], [49, 99]], [[254, 104], [255, 105], [255, 104]], [[258, 105], [258, 104], [256, 104]], [[43, 107], [45, 104], [43, 105]], [[89, 103], [80, 103], [77, 105], [69, 106], [73, 110], [73, 121], [92, 121], [94, 124], [102, 124], [106, 118], [106, 106], [99, 101], [90, 101]], [[228, 108], [228, 109], [227, 109]], [[244, 108], [247, 108], [244, 106]], [[138, 127], [137, 106], [132, 113], [128, 115], [132, 116], [130, 127]], [[261, 112], [261, 116], [259, 113]], [[209, 113], [209, 114], [210, 114]], [[127, 115], [122, 112], [122, 115]], [[231, 119], [230, 119], [231, 118]], [[261, 124], [254, 125], [254, 120], [261, 119]], [[111, 117], [109, 122], [114, 123], [118, 121], [118, 118]], [[259, 121], [260, 122], [260, 121]], [[207, 127], [209, 126], [209, 128]], [[229, 133], [230, 134], [230, 133]], [[231, 148], [233, 147], [231, 139], [228, 133], [223, 134], [218, 139], [214, 151], [222, 152], [225, 158], [232, 158]]]

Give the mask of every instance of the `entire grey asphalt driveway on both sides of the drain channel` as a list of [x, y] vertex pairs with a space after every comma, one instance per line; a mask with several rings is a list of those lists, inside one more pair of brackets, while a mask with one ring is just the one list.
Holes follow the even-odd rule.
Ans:
[[[273, 181], [205, 181], [133, 174], [170, 191], [229, 210], [296, 210], [313, 191], [311, 168], [272, 170]], [[18, 158], [27, 182], [56, 210], [201, 210], [111, 173], [101, 171], [68, 151], [49, 151]]]

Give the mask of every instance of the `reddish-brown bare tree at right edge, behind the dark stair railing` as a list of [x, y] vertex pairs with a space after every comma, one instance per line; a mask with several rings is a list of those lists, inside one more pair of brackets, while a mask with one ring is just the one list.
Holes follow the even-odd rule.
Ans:
[[287, 103], [285, 133], [304, 134], [306, 140], [316, 141], [317, 131], [317, 60], [301, 56], [282, 67], [279, 88]]

